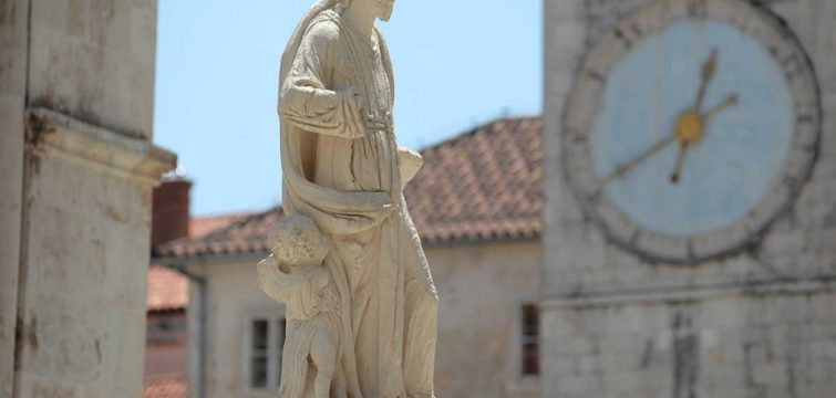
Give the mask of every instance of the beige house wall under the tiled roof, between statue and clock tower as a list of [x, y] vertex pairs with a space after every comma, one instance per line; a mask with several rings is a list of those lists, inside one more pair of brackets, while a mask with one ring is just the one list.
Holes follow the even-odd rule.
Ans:
[[536, 304], [540, 243], [430, 248], [438, 289], [438, 397], [531, 397], [537, 377], [523, 376], [523, 306]]

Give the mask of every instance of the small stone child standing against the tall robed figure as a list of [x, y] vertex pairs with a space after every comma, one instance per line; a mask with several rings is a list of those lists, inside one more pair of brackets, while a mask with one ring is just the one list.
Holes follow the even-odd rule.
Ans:
[[329, 243], [301, 214], [282, 217], [269, 239], [272, 254], [257, 265], [258, 287], [287, 303], [279, 397], [308, 396], [308, 373], [316, 369], [313, 396], [329, 398], [341, 333], [339, 293], [323, 266]]

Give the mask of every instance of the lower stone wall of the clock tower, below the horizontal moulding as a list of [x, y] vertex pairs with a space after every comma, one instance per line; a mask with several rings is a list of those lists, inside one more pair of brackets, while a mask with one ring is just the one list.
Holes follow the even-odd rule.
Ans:
[[835, 297], [773, 291], [551, 307], [545, 396], [830, 397]]

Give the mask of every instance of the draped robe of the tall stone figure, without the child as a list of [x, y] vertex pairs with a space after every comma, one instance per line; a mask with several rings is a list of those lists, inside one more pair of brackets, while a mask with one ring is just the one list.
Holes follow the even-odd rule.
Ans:
[[324, 4], [282, 57], [279, 114], [282, 207], [334, 249], [344, 391], [331, 396], [432, 397], [437, 297], [403, 200], [389, 54], [376, 30], [363, 40]]

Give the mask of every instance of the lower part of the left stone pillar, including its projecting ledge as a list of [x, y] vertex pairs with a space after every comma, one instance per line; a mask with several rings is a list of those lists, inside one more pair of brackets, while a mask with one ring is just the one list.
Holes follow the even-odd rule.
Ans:
[[142, 390], [151, 189], [174, 156], [29, 112], [17, 396]]

